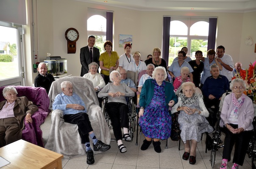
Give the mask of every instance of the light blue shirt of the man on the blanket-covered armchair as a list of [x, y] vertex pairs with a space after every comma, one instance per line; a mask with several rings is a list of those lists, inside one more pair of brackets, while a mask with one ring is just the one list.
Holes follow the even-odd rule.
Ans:
[[[80, 104], [84, 107], [84, 110], [75, 110], [72, 108], [66, 108], [67, 104]], [[75, 93], [73, 95], [68, 96], [64, 93], [60, 93], [56, 95], [54, 102], [53, 102], [53, 110], [60, 109], [63, 110], [63, 115], [66, 114], [77, 114], [84, 112], [86, 113], [86, 106], [83, 102], [83, 100]]]

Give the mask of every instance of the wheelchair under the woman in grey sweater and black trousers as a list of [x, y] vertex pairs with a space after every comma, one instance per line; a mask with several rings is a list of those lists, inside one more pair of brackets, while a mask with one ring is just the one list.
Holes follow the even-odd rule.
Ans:
[[[135, 128], [136, 128], [136, 105], [133, 101], [133, 97], [127, 97], [127, 105], [128, 105], [128, 130], [129, 130], [129, 134], [131, 136], [131, 142], [133, 140], [134, 137], [134, 132], [135, 132]], [[109, 114], [106, 110], [106, 104], [108, 103], [108, 97], [103, 97], [103, 101], [102, 101], [102, 112], [105, 116], [106, 122], [109, 125], [109, 128], [112, 128], [111, 125], [111, 120], [109, 118]], [[123, 139], [124, 140], [124, 139]], [[116, 139], [111, 139], [111, 141], [116, 141]]]

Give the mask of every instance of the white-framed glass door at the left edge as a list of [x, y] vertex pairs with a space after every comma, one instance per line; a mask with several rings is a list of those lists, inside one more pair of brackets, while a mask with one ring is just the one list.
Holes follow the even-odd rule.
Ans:
[[0, 86], [24, 84], [22, 27], [0, 21]]

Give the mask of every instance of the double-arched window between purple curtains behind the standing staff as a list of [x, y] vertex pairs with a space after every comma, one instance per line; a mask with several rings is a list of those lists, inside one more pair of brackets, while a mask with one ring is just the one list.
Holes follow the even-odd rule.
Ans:
[[169, 41], [169, 62], [178, 56], [182, 47], [187, 47], [187, 56], [195, 60], [195, 52], [200, 50], [203, 56], [207, 56], [209, 32], [209, 18], [185, 18], [171, 17], [170, 41]]

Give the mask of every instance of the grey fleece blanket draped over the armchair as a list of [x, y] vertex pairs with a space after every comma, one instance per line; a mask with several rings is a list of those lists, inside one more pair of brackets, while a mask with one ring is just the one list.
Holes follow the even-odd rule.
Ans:
[[[70, 81], [73, 84], [73, 92], [79, 95], [84, 101], [87, 109], [87, 114], [97, 139], [102, 142], [110, 143], [110, 130], [106, 123], [105, 117], [97, 99], [97, 95], [93, 88], [92, 82], [83, 77], [64, 77], [54, 81], [50, 87], [49, 98], [50, 107], [56, 95], [62, 92], [61, 82]], [[54, 110], [51, 114], [52, 126], [50, 129], [49, 138], [45, 144], [45, 148], [64, 155], [64, 158], [72, 158], [78, 155], [85, 155], [85, 145], [81, 144], [81, 137], [78, 134], [78, 125], [64, 122], [63, 112]], [[92, 140], [90, 139], [93, 150]], [[94, 153], [100, 153], [94, 152]]]

